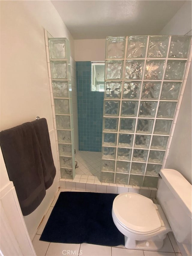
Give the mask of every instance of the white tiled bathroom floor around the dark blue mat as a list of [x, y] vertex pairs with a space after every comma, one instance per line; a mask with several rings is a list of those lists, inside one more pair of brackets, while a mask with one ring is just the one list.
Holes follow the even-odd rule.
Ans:
[[[43, 242], [39, 238], [44, 230], [46, 222], [51, 214], [53, 206], [55, 205], [59, 193], [62, 191], [79, 191], [74, 189], [60, 188], [58, 194], [53, 200], [51, 207], [49, 208], [44, 220], [42, 221], [35, 238], [32, 243], [37, 253], [37, 256], [60, 256], [60, 255], [76, 255], [76, 256], [182, 256], [173, 234], [170, 232], [165, 239], [164, 246], [160, 251], [143, 251], [143, 250], [131, 250], [126, 249], [124, 245], [119, 245], [117, 247], [92, 245], [92, 244], [64, 244], [64, 243], [52, 243]], [[81, 190], [82, 192], [82, 190]], [[156, 203], [156, 200], [154, 200]], [[69, 230], [70, 232], [70, 230]]]

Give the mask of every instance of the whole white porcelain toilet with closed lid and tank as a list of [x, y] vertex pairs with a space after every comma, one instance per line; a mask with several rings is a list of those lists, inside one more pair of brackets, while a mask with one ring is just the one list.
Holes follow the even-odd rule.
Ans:
[[176, 170], [161, 169], [156, 205], [136, 193], [119, 194], [112, 217], [125, 236], [125, 247], [157, 251], [173, 231], [178, 242], [191, 244], [191, 184]]

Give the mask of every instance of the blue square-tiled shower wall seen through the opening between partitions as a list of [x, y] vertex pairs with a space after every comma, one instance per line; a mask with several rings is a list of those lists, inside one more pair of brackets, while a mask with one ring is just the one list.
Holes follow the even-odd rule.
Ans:
[[79, 150], [101, 152], [104, 92], [91, 92], [91, 62], [76, 62]]

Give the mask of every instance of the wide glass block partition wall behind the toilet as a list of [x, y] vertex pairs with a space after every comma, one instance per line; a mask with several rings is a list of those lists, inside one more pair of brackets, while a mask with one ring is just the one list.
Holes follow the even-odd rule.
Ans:
[[190, 41], [107, 37], [102, 182], [157, 187]]

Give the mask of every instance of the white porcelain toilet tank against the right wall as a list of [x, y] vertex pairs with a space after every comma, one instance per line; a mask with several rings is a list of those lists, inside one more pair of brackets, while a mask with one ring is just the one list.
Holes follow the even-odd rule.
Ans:
[[191, 244], [191, 184], [176, 170], [161, 169], [157, 199], [178, 242]]

